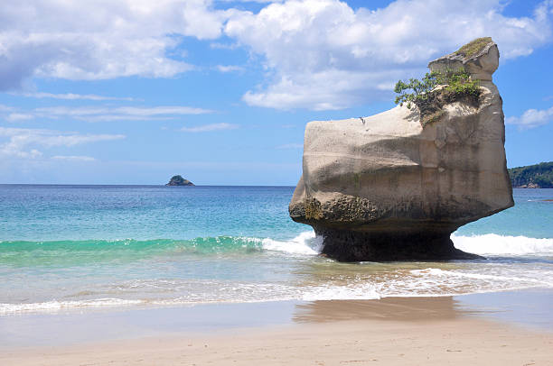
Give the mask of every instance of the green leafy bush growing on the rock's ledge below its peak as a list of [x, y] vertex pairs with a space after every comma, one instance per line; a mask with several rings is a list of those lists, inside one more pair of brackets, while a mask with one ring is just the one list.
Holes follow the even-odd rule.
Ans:
[[480, 96], [478, 80], [471, 79], [464, 69], [434, 71], [426, 73], [420, 80], [399, 80], [394, 91], [398, 93], [397, 105], [406, 104], [409, 109], [417, 106], [423, 126], [438, 121], [444, 114], [444, 105], [464, 102], [478, 106]]

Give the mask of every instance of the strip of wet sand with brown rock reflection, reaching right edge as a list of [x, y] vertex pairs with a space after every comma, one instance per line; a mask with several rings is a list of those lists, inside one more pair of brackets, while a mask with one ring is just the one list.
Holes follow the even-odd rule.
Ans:
[[484, 317], [525, 328], [553, 332], [549, 288], [455, 297], [384, 297], [375, 300], [329, 300], [296, 303], [297, 324], [384, 320], [433, 322]]

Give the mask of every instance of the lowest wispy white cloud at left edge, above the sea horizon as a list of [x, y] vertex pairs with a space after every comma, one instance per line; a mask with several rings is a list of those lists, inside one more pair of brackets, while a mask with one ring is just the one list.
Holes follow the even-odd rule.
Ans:
[[64, 133], [55, 130], [0, 127], [0, 156], [23, 159], [42, 157], [38, 147], [73, 147], [83, 143], [106, 142], [125, 139], [123, 134]]

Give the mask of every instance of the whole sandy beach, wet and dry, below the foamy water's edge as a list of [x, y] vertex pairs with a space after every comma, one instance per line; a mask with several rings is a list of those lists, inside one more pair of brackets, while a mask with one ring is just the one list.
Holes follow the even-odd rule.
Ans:
[[0, 363], [551, 364], [551, 297], [534, 289], [2, 316]]

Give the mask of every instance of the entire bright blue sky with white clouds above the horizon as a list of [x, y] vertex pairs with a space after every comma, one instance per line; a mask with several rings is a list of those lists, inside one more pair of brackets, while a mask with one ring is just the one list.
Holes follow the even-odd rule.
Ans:
[[0, 4], [0, 184], [290, 185], [305, 124], [498, 44], [507, 165], [553, 160], [553, 0]]

